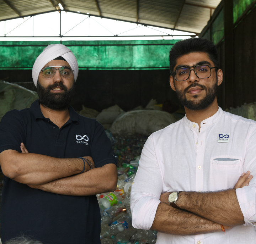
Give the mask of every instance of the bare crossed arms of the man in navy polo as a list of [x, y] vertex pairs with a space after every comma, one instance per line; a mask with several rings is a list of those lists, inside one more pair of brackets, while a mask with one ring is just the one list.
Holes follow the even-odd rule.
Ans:
[[82, 159], [58, 159], [40, 154], [28, 153], [21, 143], [22, 153], [5, 150], [0, 154], [0, 165], [5, 176], [31, 188], [47, 192], [83, 196], [113, 192], [117, 185], [116, 165], [109, 163], [100, 168], [85, 165]]

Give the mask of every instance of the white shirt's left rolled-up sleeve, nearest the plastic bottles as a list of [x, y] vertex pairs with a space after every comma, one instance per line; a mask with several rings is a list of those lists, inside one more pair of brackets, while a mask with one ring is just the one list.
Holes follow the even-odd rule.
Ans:
[[137, 229], [150, 229], [162, 193], [162, 176], [156, 159], [153, 134], [146, 141], [131, 190], [132, 224]]

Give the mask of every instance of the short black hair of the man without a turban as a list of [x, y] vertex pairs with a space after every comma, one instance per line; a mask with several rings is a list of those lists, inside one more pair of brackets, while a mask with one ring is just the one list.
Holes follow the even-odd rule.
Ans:
[[[191, 52], [206, 52], [215, 67], [219, 67], [219, 56], [216, 46], [211, 40], [193, 37], [176, 42], [170, 51], [170, 72], [174, 71], [177, 59]], [[216, 72], [218, 70], [216, 69]]]

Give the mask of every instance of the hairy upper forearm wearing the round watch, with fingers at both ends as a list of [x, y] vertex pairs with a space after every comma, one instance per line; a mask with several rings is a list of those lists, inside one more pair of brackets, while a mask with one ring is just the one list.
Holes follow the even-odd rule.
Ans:
[[[236, 189], [247, 186], [251, 181], [250, 171], [243, 173], [234, 189], [221, 192], [181, 192], [176, 201], [177, 207], [226, 226], [244, 224], [244, 216], [236, 197]], [[161, 195], [160, 200], [168, 202], [170, 193]]]

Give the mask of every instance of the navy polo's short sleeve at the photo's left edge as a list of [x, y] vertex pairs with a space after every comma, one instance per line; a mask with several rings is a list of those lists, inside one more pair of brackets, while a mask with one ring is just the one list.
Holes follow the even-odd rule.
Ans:
[[8, 149], [21, 153], [20, 144], [25, 144], [25, 139], [25, 129], [19, 111], [7, 112], [0, 122], [0, 153]]

